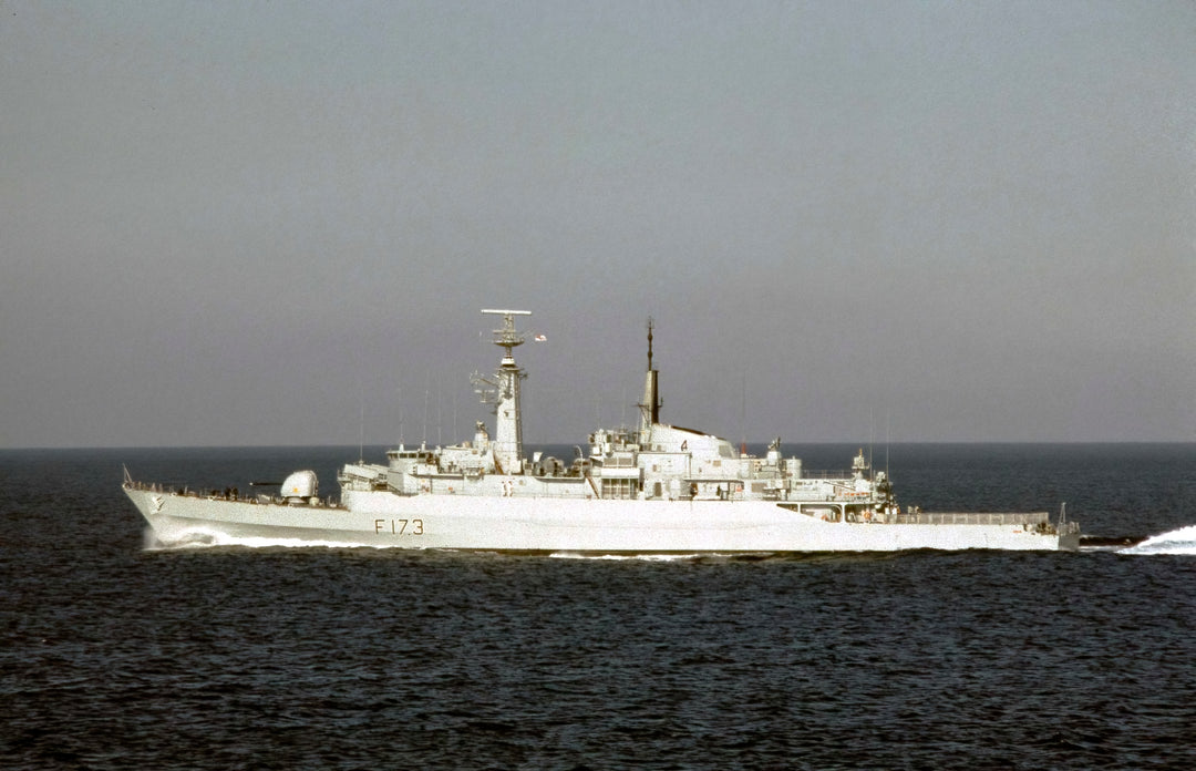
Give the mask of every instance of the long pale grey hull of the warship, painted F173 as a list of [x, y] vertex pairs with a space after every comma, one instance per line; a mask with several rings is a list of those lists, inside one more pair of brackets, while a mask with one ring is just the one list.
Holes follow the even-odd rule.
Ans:
[[[163, 544], [263, 539], [328, 546], [547, 553], [759, 553], [1075, 550], [1079, 530], [1043, 515], [954, 515], [958, 523], [825, 522], [770, 502], [568, 500], [355, 493], [350, 508], [126, 492]], [[930, 515], [925, 515], [929, 517]], [[964, 520], [968, 517], [968, 520]], [[1054, 530], [1054, 528], [1052, 528]]]

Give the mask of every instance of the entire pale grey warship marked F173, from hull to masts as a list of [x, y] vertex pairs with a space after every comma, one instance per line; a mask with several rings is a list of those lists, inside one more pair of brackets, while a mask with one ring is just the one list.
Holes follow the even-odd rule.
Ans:
[[637, 426], [598, 429], [588, 451], [568, 462], [524, 455], [514, 350], [515, 320], [531, 311], [483, 309], [501, 317], [492, 376], [474, 374], [493, 408], [494, 433], [476, 423], [471, 441], [399, 444], [385, 463], [347, 463], [340, 499], [321, 497], [312, 471], [297, 471], [277, 493], [199, 491], [135, 481], [123, 488], [163, 545], [273, 539], [319, 545], [541, 552], [696, 554], [902, 550], [1076, 550], [1080, 528], [1063, 512], [923, 512], [902, 509], [885, 472], [861, 451], [843, 472], [807, 472], [718, 436], [660, 420], [658, 371], [648, 366]]

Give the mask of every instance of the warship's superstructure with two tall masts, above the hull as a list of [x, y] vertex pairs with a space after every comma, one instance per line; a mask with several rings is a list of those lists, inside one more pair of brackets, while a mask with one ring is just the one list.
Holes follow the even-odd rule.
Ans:
[[780, 438], [764, 457], [751, 457], [724, 438], [660, 423], [651, 322], [639, 429], [598, 429], [588, 437], [588, 454], [568, 463], [541, 453], [525, 459], [519, 403], [519, 381], [525, 374], [512, 350], [524, 341], [514, 320], [530, 314], [482, 312], [504, 318], [502, 328], [494, 332], [495, 345], [505, 350], [498, 370], [493, 377], [472, 377], [482, 386], [482, 402], [494, 406], [494, 437], [480, 421], [470, 442], [435, 449], [399, 447], [388, 453], [385, 466], [346, 466], [338, 479], [346, 505], [353, 505], [356, 493], [386, 491], [397, 496], [792, 502], [789, 510], [825, 521], [884, 521], [898, 514], [885, 473], [868, 475], [862, 451], [850, 474], [810, 476], [803, 474], [799, 459], [781, 457]]

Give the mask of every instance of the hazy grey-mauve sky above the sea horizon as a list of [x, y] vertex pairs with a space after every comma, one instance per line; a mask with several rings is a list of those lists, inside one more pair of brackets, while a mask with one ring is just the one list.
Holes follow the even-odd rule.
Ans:
[[[1196, 5], [0, 0], [0, 447], [1196, 441]], [[492, 423], [493, 425], [493, 423]]]

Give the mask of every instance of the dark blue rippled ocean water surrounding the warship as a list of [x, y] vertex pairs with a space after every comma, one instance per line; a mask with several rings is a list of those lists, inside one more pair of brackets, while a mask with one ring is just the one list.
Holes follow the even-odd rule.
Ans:
[[1139, 553], [147, 550], [120, 490], [356, 454], [0, 453], [0, 767], [1196, 767], [1194, 444], [887, 451], [903, 504]]

